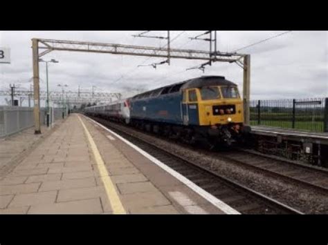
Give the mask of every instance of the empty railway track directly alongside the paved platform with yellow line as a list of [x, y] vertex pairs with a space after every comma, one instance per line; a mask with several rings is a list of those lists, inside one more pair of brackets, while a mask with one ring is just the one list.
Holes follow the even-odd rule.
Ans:
[[176, 172], [190, 179], [190, 181], [203, 188], [222, 202], [235, 208], [242, 214], [302, 214], [294, 208], [282, 204], [271, 197], [251, 190], [247, 186], [239, 184], [232, 179], [221, 176], [208, 168], [204, 168], [198, 162], [190, 161], [181, 155], [158, 148], [152, 142], [136, 137], [126, 126], [121, 126], [104, 119], [91, 117], [103, 126], [113, 130], [125, 139], [136, 144], [150, 155], [162, 161], [163, 164], [176, 170]]

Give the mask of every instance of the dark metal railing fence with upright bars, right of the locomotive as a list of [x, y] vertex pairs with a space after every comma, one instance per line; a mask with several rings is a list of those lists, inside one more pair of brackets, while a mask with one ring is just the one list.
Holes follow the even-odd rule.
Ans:
[[250, 124], [328, 131], [328, 98], [250, 101]]

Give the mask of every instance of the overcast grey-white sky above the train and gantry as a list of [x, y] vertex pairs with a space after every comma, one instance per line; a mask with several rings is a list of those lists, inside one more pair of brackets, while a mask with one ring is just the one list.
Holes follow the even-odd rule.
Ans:
[[[219, 51], [231, 52], [262, 39], [279, 35], [284, 31], [219, 31]], [[120, 43], [138, 46], [164, 46], [165, 40], [136, 38], [138, 31], [91, 31], [91, 32], [1, 32], [0, 47], [10, 48], [11, 63], [0, 63], [0, 90], [9, 84], [19, 84], [28, 89], [31, 84], [33, 37]], [[201, 31], [172, 31], [172, 48], [208, 50], [208, 42], [191, 41], [189, 37]], [[165, 36], [165, 31], [150, 32], [149, 35]], [[251, 55], [251, 99], [281, 99], [328, 96], [328, 32], [289, 32], [286, 35], [239, 50]], [[53, 51], [43, 59], [57, 59], [60, 63], [49, 65], [51, 90], [59, 90], [57, 84], [67, 84], [67, 90], [95, 92], [122, 92], [126, 97], [138, 90], [147, 90], [172, 84], [202, 75], [224, 75], [240, 86], [242, 92], [242, 68], [235, 63], [214, 63], [201, 70], [186, 70], [203, 61], [172, 59], [171, 66], [164, 64], [156, 69], [151, 64], [162, 58], [132, 57], [123, 55], [93, 54], [82, 52]], [[46, 67], [40, 63], [41, 89], [46, 89]], [[4, 100], [0, 99], [0, 104]]]

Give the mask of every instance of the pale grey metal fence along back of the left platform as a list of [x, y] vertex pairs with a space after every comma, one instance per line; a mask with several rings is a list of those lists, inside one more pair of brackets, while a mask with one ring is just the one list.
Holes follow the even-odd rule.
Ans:
[[[62, 108], [53, 109], [53, 121], [62, 118]], [[66, 117], [66, 113], [64, 113]], [[46, 110], [40, 110], [41, 124], [46, 125]], [[0, 106], [0, 138], [18, 133], [34, 126], [33, 108], [18, 106]]]

